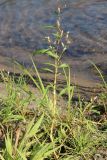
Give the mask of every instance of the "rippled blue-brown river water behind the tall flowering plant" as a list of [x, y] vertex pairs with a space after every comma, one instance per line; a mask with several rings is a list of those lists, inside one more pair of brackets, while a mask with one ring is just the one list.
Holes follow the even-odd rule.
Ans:
[[[90, 60], [107, 74], [107, 1], [61, 0], [61, 23], [73, 42], [63, 61], [73, 82], [94, 86], [100, 80]], [[29, 54], [46, 47], [45, 25], [56, 21], [57, 0], [0, 0], [0, 67], [12, 69], [8, 57], [29, 66]], [[48, 57], [37, 56], [39, 66]]]

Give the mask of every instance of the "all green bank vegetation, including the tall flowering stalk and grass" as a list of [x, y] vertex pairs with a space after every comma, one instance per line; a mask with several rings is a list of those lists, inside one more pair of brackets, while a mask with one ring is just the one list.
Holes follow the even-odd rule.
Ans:
[[[107, 84], [101, 76], [104, 87], [97, 100], [72, 100], [75, 88], [70, 83], [70, 68], [61, 62], [70, 43], [69, 32], [61, 28], [59, 7], [57, 16], [56, 25], [47, 26], [54, 31], [52, 37], [46, 37], [49, 47], [33, 53], [53, 59], [44, 68], [54, 74], [53, 83], [44, 85], [33, 59], [37, 78], [26, 68], [22, 70], [36, 86], [35, 91], [23, 75], [16, 79], [1, 72], [7, 92], [0, 99], [1, 160], [91, 160], [101, 156], [99, 148], [107, 148]], [[66, 85], [57, 92], [59, 74], [65, 76]], [[61, 108], [58, 99], [65, 94]]]

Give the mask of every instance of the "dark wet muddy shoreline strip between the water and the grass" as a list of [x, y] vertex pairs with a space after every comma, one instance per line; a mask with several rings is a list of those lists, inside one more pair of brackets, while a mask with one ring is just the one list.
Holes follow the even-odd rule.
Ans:
[[[32, 77], [34, 79], [36, 79], [36, 81], [38, 81], [37, 75], [35, 74], [34, 70], [30, 68], [30, 69], [28, 69], [28, 71], [32, 75]], [[10, 77], [14, 77], [14, 80], [16, 83], [17, 83], [17, 80], [19, 79], [19, 77], [23, 75], [26, 83], [29, 85], [31, 90], [32, 89], [34, 91], [38, 90], [36, 88], [34, 82], [32, 81], [32, 79], [23, 70], [19, 71], [16, 66], [14, 67], [14, 71], [7, 72], [6, 70], [3, 70], [2, 73], [6, 76], [9, 75]], [[50, 83], [52, 83], [52, 84], [54, 83], [54, 76], [52, 74], [47, 74], [44, 72], [39, 72], [39, 73], [40, 73], [40, 76], [41, 76], [41, 79], [42, 79], [44, 86], [47, 86]], [[4, 83], [3, 83], [4, 81], [3, 81], [1, 75], [0, 75], [0, 82], [2, 82], [1, 88], [0, 88], [2, 91], [3, 86], [4, 86]], [[75, 84], [75, 82], [73, 82], [73, 80], [71, 79], [71, 85], [74, 87], [74, 92], [73, 92], [73, 97], [72, 97], [73, 102], [79, 101], [79, 97], [81, 97], [81, 99], [83, 99], [84, 101], [90, 101], [91, 98], [94, 100], [95, 97], [99, 97], [101, 93], [106, 92], [105, 88], [103, 88], [102, 85], [100, 85], [100, 84], [97, 86], [89, 86], [88, 87], [86, 85]], [[66, 87], [66, 81], [65, 81], [65, 77], [61, 75], [57, 78], [57, 92], [59, 93], [64, 87]], [[38, 94], [37, 94], [37, 97], [38, 97]], [[63, 98], [66, 99], [67, 97], [68, 97], [68, 95], [64, 94]]]

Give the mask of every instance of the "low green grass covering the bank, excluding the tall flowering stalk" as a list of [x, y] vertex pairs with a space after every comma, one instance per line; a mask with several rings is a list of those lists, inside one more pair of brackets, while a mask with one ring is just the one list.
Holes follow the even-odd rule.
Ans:
[[[25, 69], [26, 71], [26, 69]], [[102, 119], [98, 104], [94, 102], [72, 103], [72, 86], [61, 115], [56, 100], [50, 95], [42, 80], [33, 79], [42, 87], [36, 97], [23, 76], [2, 74], [7, 94], [1, 99], [0, 109], [0, 158], [1, 160], [91, 159], [98, 148], [107, 147], [107, 121]], [[30, 74], [30, 73], [29, 73]], [[30, 76], [30, 75], [29, 75]], [[62, 96], [65, 91], [62, 90]], [[103, 93], [104, 94], [104, 93]], [[100, 103], [102, 101], [99, 97]], [[33, 103], [33, 108], [29, 104]], [[102, 103], [104, 104], [104, 102]], [[103, 107], [103, 106], [102, 106]], [[96, 118], [93, 118], [96, 116]], [[99, 117], [99, 120], [97, 120]]]

